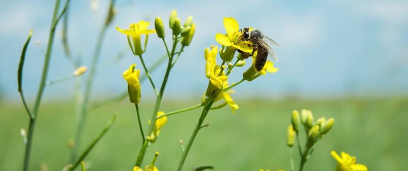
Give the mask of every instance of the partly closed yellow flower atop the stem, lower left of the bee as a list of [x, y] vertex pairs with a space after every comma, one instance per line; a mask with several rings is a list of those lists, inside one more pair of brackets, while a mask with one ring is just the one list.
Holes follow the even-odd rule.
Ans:
[[216, 65], [214, 67], [214, 72], [210, 75], [210, 81], [208, 83], [208, 88], [206, 92], [206, 96], [210, 100], [214, 100], [218, 97], [218, 95], [222, 92], [222, 88], [225, 84], [228, 84], [228, 76], [225, 75], [224, 72], [220, 75], [221, 66]]

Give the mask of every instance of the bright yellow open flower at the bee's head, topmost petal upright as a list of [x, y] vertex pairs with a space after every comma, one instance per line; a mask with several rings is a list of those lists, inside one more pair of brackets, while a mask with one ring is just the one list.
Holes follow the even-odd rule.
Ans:
[[252, 52], [253, 48], [248, 46], [248, 44], [252, 44], [250, 41], [239, 41], [242, 33], [239, 32], [239, 25], [235, 18], [224, 17], [224, 27], [226, 35], [221, 33], [215, 35], [215, 40], [219, 44], [227, 47], [221, 55], [224, 61], [231, 61], [237, 49], [243, 52]]

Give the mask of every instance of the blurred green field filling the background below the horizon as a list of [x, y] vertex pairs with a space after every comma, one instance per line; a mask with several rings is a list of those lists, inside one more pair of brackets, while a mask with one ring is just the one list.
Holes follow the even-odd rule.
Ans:
[[[196, 101], [196, 102], [194, 102]], [[214, 165], [215, 170], [290, 170], [286, 129], [293, 109], [309, 108], [315, 118], [333, 117], [334, 128], [318, 142], [305, 170], [334, 170], [331, 150], [345, 151], [357, 157], [369, 170], [405, 170], [408, 161], [408, 99], [324, 99], [266, 101], [256, 98], [236, 99], [240, 109], [233, 115], [229, 107], [211, 110], [186, 160], [185, 170], [194, 166]], [[199, 103], [199, 100], [165, 101], [164, 111]], [[142, 102], [141, 117], [150, 118], [152, 103]], [[20, 128], [28, 124], [27, 113], [19, 103], [1, 103], [0, 170], [20, 170], [24, 144]], [[132, 170], [141, 146], [134, 106], [124, 100], [89, 113], [81, 149], [106, 125], [112, 114], [118, 117], [113, 127], [86, 158], [88, 170]], [[144, 163], [155, 151], [160, 152], [159, 170], [175, 170], [182, 148], [199, 117], [200, 109], [168, 118], [167, 125], [152, 144]], [[75, 131], [71, 102], [45, 102], [39, 112], [32, 150], [31, 170], [61, 170], [68, 160], [67, 140]], [[295, 163], [299, 162], [294, 151]], [[144, 164], [143, 164], [144, 165]], [[297, 166], [297, 165], [296, 165]]]

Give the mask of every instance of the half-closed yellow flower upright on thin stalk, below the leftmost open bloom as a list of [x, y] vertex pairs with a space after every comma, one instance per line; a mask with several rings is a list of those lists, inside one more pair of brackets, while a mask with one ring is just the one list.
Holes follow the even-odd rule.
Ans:
[[122, 75], [127, 81], [127, 93], [131, 103], [138, 104], [140, 101], [140, 70], [135, 70], [136, 64], [132, 64], [129, 69], [125, 70]]

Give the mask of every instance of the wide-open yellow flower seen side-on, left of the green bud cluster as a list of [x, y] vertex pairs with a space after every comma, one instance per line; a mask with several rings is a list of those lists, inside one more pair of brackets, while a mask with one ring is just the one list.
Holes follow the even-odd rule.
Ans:
[[[129, 30], [122, 30], [118, 26], [116, 26], [116, 30], [127, 36], [127, 42], [129, 43], [129, 46], [131, 47], [132, 52], [135, 55], [141, 55], [146, 50], [148, 34], [156, 33], [155, 30], [147, 29], [149, 24], [150, 22], [140, 20], [138, 23], [132, 23], [131, 25], [129, 25]], [[144, 40], [144, 50], [142, 50], [142, 44], [140, 42], [141, 35], [146, 35]], [[131, 38], [133, 46], [131, 43]]]

